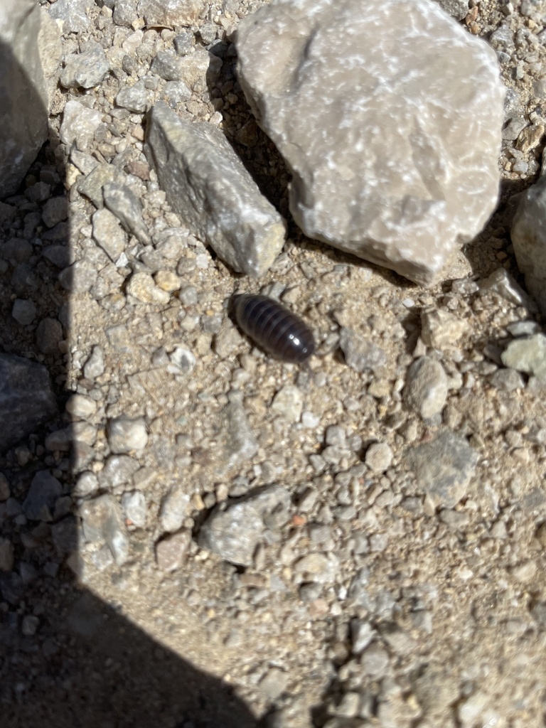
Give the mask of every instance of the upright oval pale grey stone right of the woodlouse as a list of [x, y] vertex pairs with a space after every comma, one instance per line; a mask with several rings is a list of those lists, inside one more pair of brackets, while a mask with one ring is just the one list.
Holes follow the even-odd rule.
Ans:
[[409, 408], [423, 419], [430, 419], [443, 410], [448, 396], [448, 378], [440, 362], [419, 357], [408, 369], [404, 399]]

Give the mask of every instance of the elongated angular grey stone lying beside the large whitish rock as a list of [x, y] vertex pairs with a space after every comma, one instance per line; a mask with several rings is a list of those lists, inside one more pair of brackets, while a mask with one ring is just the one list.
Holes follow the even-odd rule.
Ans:
[[147, 154], [173, 210], [237, 272], [264, 274], [285, 223], [212, 124], [183, 121], [165, 103], [148, 119]]

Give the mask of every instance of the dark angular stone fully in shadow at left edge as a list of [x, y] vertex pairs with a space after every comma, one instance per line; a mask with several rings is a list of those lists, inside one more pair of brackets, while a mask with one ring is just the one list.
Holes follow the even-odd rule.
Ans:
[[0, 354], [0, 451], [31, 435], [57, 414], [50, 375], [41, 364]]

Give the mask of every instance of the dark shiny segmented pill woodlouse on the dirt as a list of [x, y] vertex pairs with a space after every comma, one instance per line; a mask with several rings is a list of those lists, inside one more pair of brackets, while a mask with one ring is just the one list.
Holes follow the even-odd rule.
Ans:
[[312, 331], [300, 317], [267, 296], [234, 296], [242, 331], [277, 359], [301, 364], [314, 352]]

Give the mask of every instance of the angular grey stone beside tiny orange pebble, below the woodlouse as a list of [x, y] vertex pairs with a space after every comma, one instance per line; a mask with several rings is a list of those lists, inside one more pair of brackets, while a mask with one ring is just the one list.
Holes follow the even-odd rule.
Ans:
[[282, 486], [268, 486], [237, 501], [215, 507], [199, 531], [198, 544], [225, 561], [252, 566], [266, 528], [288, 520], [290, 494]]

